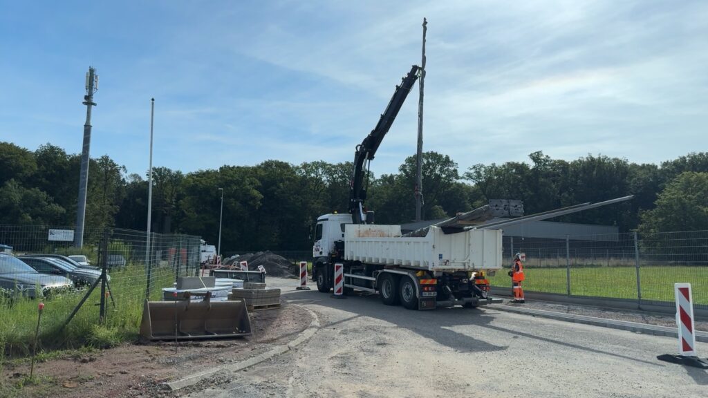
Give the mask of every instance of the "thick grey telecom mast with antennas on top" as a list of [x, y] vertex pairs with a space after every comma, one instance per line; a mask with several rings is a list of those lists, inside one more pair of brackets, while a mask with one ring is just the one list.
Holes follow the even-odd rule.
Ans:
[[93, 93], [98, 91], [98, 75], [96, 69], [89, 67], [86, 73], [86, 95], [83, 104], [86, 106], [86, 123], [84, 123], [84, 147], [81, 150], [81, 172], [79, 174], [79, 201], [76, 205], [76, 232], [74, 246], [84, 246], [84, 218], [86, 217], [86, 189], [89, 186], [89, 149], [91, 149], [91, 106]]

